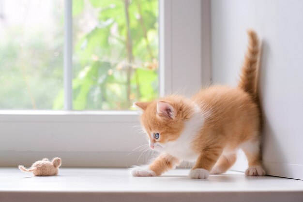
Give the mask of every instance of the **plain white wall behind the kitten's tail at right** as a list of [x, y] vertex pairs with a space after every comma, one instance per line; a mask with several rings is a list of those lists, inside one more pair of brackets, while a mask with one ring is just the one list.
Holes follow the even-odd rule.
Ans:
[[211, 7], [212, 83], [236, 86], [245, 30], [257, 30], [264, 164], [270, 175], [303, 179], [303, 1], [212, 0]]

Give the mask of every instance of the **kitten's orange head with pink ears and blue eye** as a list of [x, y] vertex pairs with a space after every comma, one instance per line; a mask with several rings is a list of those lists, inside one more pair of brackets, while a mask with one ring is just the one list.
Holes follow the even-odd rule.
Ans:
[[194, 113], [193, 104], [179, 95], [136, 102], [135, 105], [143, 112], [141, 125], [150, 147], [156, 151], [164, 151], [170, 142], [176, 141], [184, 129], [184, 122]]

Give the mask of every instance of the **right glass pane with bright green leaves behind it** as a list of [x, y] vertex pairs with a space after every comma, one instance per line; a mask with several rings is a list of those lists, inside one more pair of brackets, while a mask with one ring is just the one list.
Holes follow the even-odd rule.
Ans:
[[158, 96], [158, 1], [73, 1], [73, 109], [125, 110]]

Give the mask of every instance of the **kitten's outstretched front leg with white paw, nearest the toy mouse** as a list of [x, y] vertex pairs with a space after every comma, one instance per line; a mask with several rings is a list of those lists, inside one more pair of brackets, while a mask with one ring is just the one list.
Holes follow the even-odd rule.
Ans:
[[174, 169], [179, 160], [169, 154], [161, 154], [152, 164], [147, 166], [137, 166], [131, 170], [133, 176], [159, 176], [162, 173]]

